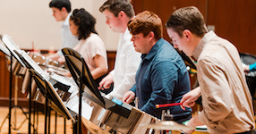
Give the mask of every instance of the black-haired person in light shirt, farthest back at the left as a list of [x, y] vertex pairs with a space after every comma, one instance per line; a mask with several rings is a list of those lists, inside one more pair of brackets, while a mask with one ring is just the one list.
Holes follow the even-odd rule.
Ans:
[[[52, 0], [49, 3], [49, 7], [53, 11], [53, 16], [56, 21], [64, 21], [62, 25], [62, 47], [73, 48], [79, 42], [76, 36], [73, 36], [69, 29], [69, 18], [71, 16], [71, 3], [69, 0]], [[62, 56], [61, 50], [55, 54], [51, 54], [48, 58], [57, 61], [60, 56]]]

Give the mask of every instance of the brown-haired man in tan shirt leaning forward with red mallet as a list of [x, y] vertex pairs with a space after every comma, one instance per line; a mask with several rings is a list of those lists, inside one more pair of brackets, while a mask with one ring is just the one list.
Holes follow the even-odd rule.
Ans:
[[206, 125], [213, 134], [255, 134], [252, 97], [236, 47], [208, 31], [201, 12], [194, 6], [172, 13], [166, 30], [174, 46], [197, 61], [200, 88], [185, 94], [181, 103], [191, 107], [201, 96], [202, 111], [187, 125]]

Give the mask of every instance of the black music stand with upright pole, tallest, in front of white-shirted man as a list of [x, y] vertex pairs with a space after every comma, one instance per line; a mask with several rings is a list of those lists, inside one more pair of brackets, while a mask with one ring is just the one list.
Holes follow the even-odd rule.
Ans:
[[[100, 93], [98, 92], [97, 84], [95, 83], [95, 81], [93, 81], [90, 71], [88, 69], [88, 66], [84, 62], [81, 54], [73, 51], [73, 49], [70, 49], [70, 48], [63, 48], [62, 52], [64, 54], [66, 64], [73, 76], [73, 79], [78, 85], [78, 87], [80, 88], [78, 124], [76, 120], [76, 122], [74, 123], [74, 127], [75, 128], [78, 127], [79, 128], [78, 132], [79, 134], [81, 134], [81, 95], [83, 93], [83, 88], [87, 86], [90, 89], [90, 91], [88, 91], [88, 95], [91, 96], [90, 98], [95, 100], [98, 105], [101, 105], [104, 107], [105, 102], [102, 96], [100, 95]], [[74, 133], [77, 133], [77, 131], [74, 131]]]

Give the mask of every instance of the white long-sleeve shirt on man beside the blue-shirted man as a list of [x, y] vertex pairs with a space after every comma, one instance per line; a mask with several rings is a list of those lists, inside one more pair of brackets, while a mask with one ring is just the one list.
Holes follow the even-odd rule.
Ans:
[[134, 50], [132, 35], [128, 29], [120, 34], [117, 52], [115, 56], [115, 67], [110, 73], [114, 75], [114, 88], [109, 93], [122, 99], [124, 94], [135, 84], [135, 74], [141, 63], [141, 54]]

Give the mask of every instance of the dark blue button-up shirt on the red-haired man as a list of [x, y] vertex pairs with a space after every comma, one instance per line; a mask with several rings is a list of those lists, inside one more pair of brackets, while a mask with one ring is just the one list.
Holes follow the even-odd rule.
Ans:
[[[136, 73], [136, 84], [130, 89], [139, 97], [139, 109], [158, 119], [163, 109], [155, 105], [179, 103], [190, 91], [190, 79], [183, 59], [165, 39], [160, 38], [149, 54], [141, 54], [141, 65]], [[190, 114], [180, 105], [167, 107], [174, 116]]]

